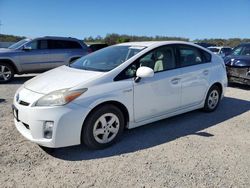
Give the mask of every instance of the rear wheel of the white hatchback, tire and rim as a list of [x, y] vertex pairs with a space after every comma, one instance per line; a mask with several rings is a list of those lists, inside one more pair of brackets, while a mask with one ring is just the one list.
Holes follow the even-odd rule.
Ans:
[[221, 98], [220, 88], [216, 85], [212, 86], [207, 93], [203, 110], [205, 112], [213, 112], [214, 110], [216, 110], [216, 108], [220, 103], [220, 98]]

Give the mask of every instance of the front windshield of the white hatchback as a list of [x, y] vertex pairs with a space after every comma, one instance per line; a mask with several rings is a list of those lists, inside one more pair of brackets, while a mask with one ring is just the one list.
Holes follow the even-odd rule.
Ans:
[[145, 47], [142, 46], [110, 46], [80, 58], [70, 67], [106, 72], [119, 66], [143, 49]]

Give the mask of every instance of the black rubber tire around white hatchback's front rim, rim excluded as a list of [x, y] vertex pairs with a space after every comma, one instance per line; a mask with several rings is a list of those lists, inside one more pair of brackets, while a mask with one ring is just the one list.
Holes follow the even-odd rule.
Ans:
[[[115, 138], [105, 144], [101, 144], [99, 142], [97, 142], [94, 138], [93, 135], [93, 128], [94, 128], [94, 124], [96, 122], [96, 120], [102, 116], [103, 114], [106, 113], [113, 113], [115, 114], [118, 119], [119, 119], [119, 131], [117, 133], [117, 135], [115, 136]], [[104, 105], [101, 106], [99, 108], [97, 108], [96, 110], [94, 110], [86, 119], [86, 121], [83, 124], [83, 128], [82, 128], [82, 134], [81, 134], [81, 140], [82, 143], [84, 143], [86, 146], [88, 146], [88, 148], [90, 149], [103, 149], [106, 148], [112, 144], [114, 144], [122, 135], [123, 130], [124, 130], [124, 125], [125, 125], [125, 121], [124, 121], [124, 116], [122, 111], [117, 108], [114, 105]]]

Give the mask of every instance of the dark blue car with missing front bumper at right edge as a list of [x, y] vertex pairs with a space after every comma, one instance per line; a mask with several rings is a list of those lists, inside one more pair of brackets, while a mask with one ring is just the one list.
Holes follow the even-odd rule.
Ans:
[[229, 82], [250, 85], [250, 43], [243, 43], [224, 58]]

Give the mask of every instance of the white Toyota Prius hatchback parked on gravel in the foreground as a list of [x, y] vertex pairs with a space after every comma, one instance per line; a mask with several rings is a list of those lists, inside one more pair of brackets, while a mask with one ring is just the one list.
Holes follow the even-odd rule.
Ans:
[[214, 111], [226, 86], [222, 58], [205, 48], [123, 43], [24, 83], [14, 97], [14, 122], [24, 137], [45, 147], [104, 148], [124, 128], [200, 108]]

